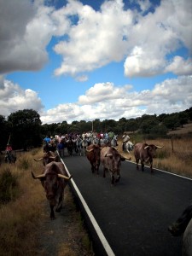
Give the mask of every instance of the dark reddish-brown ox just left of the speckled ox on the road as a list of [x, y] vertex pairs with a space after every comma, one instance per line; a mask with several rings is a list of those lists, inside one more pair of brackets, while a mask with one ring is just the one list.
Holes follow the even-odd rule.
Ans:
[[87, 151], [87, 159], [90, 161], [91, 171], [92, 173], [96, 172], [99, 174], [99, 166], [100, 166], [100, 147], [96, 144], [91, 144], [86, 148]]

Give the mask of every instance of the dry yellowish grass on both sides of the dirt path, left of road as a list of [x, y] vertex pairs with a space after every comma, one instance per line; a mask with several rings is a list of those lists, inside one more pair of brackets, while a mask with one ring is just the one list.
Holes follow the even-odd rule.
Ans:
[[[43, 222], [46, 197], [40, 182], [34, 183], [31, 171], [41, 173], [43, 163], [35, 162], [33, 158], [42, 156], [42, 148], [27, 152], [17, 159], [15, 165], [3, 163], [0, 166], [0, 184], [7, 183], [10, 193], [4, 195], [0, 189], [0, 255], [20, 256], [39, 255], [39, 228]], [[9, 182], [8, 182], [9, 181]], [[9, 196], [9, 201], [7, 200]], [[6, 200], [3, 200], [5, 198]], [[77, 236], [85, 250], [89, 250], [89, 237], [80, 220], [80, 212], [75, 208], [73, 195], [67, 186], [65, 189], [65, 204], [70, 205], [73, 216], [72, 236]], [[46, 213], [47, 214], [47, 213]], [[73, 252], [70, 241], [60, 245], [59, 256], [78, 255]]]

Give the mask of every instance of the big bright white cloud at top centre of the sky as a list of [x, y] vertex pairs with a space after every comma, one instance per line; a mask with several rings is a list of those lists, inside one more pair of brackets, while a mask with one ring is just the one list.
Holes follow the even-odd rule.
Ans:
[[55, 52], [63, 57], [55, 75], [75, 76], [123, 59], [126, 52], [124, 36], [131, 26], [133, 14], [123, 10], [121, 1], [103, 3], [101, 9], [96, 12], [87, 5], [73, 8], [79, 22], [71, 27], [67, 41], [55, 45]]

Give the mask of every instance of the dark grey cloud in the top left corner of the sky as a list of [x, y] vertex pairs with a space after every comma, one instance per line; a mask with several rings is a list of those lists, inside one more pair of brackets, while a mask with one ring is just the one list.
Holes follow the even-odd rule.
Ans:
[[51, 34], [46, 9], [30, 1], [0, 1], [0, 73], [38, 70], [48, 61]]

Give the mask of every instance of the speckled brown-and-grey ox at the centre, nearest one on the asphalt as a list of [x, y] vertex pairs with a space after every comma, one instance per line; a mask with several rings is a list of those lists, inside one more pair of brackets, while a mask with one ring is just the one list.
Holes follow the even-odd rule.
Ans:
[[[120, 179], [121, 161], [125, 161], [125, 157], [119, 154], [116, 148], [104, 147], [101, 150], [101, 163], [103, 166], [103, 177], [106, 170], [111, 174], [111, 183], [118, 183]], [[116, 176], [116, 178], [115, 178]]]

